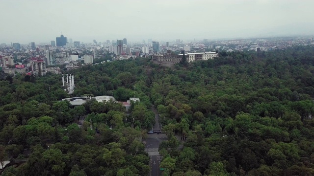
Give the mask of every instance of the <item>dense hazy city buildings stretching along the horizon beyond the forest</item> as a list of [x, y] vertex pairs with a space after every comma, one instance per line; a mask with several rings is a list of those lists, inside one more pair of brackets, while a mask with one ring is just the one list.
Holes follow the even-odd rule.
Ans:
[[[95, 64], [124, 60], [134, 57], [152, 58], [153, 62], [163, 66], [179, 63], [184, 51], [187, 62], [213, 59], [218, 52], [233, 51], [270, 51], [295, 45], [314, 45], [313, 37], [277, 37], [261, 39], [233, 40], [190, 40], [173, 41], [143, 40], [129, 43], [126, 38], [106, 40], [84, 44], [68, 39], [63, 34], [55, 41], [35, 44], [0, 44], [0, 70], [45, 75], [47, 71], [59, 73], [57, 65], [66, 65], [73, 69], [83, 64]], [[108, 57], [109, 56], [109, 57]], [[100, 63], [97, 62], [97, 63]]]

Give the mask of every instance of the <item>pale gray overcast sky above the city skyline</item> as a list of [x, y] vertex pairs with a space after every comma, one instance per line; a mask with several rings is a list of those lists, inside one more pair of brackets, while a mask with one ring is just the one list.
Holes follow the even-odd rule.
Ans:
[[314, 0], [0, 0], [0, 43], [314, 34]]

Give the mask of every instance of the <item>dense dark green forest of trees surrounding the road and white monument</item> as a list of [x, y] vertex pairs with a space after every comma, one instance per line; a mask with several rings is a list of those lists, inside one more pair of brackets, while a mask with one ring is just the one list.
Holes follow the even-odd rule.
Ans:
[[[314, 47], [172, 68], [136, 58], [71, 73], [73, 95], [51, 73], [0, 81], [0, 161], [18, 166], [3, 176], [147, 176], [152, 105], [169, 138], [159, 146], [165, 176], [314, 175]], [[60, 101], [90, 94], [140, 103], [128, 115], [115, 102]]]

